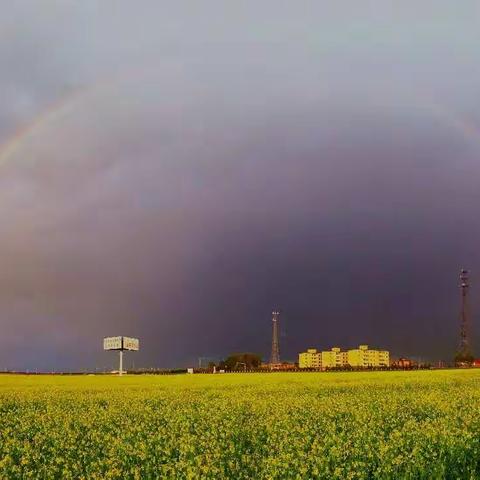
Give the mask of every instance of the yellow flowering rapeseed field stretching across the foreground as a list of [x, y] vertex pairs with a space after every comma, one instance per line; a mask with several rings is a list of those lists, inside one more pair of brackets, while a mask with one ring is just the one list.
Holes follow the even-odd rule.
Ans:
[[480, 478], [480, 371], [0, 376], [0, 478]]

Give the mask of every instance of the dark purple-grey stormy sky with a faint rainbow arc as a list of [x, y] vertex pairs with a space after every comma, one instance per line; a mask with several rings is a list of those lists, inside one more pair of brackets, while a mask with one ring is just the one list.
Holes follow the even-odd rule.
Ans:
[[2, 0], [0, 370], [480, 356], [480, 5]]

